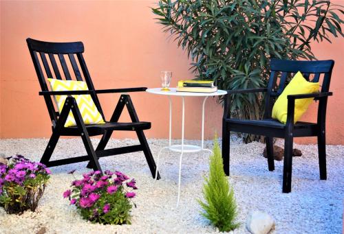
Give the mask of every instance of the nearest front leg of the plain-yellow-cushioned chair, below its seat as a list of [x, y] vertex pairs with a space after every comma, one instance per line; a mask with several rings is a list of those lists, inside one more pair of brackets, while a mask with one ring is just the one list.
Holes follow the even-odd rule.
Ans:
[[283, 193], [292, 190], [292, 135], [284, 139]]

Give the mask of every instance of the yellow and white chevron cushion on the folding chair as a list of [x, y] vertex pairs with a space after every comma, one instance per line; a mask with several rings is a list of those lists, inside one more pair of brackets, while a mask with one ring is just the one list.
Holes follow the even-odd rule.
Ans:
[[[52, 91], [81, 91], [88, 90], [87, 84], [83, 81], [76, 80], [56, 80], [47, 79], [50, 82]], [[96, 104], [94, 104], [91, 95], [72, 95], [75, 98], [78, 108], [80, 110], [81, 116], [85, 124], [105, 124], [105, 121], [100, 115]], [[54, 100], [58, 107], [58, 112], [61, 113], [63, 105], [67, 95], [54, 95]], [[65, 122], [65, 128], [76, 126], [76, 121], [74, 119], [72, 110], [69, 112], [67, 121]]]

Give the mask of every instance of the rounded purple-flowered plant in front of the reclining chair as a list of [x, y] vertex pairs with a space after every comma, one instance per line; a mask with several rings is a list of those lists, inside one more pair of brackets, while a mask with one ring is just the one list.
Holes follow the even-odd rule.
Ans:
[[69, 198], [83, 218], [102, 224], [130, 224], [130, 199], [136, 196], [132, 189], [138, 189], [135, 179], [122, 172], [107, 170], [103, 175], [92, 171], [74, 180], [71, 187], [63, 192], [63, 198]]

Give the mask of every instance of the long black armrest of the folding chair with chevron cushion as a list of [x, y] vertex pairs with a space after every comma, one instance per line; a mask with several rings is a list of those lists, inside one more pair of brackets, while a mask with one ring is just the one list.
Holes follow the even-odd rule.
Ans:
[[98, 89], [98, 90], [79, 90], [79, 91], [41, 91], [39, 95], [87, 95], [92, 93], [129, 93], [146, 91], [146, 87], [124, 88], [124, 89]]

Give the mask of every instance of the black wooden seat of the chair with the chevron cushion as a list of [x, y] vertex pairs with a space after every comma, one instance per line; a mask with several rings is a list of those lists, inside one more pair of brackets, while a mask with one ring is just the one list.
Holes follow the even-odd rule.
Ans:
[[[150, 122], [135, 122], [135, 123], [119, 123], [119, 122], [106, 122], [105, 124], [89, 124], [86, 125], [87, 132], [89, 132], [90, 136], [98, 135], [98, 134], [104, 134], [106, 130], [146, 130], [151, 128]], [[78, 127], [68, 127], [63, 128], [62, 130], [63, 134], [66, 135], [78, 135], [80, 134], [78, 132]]]

